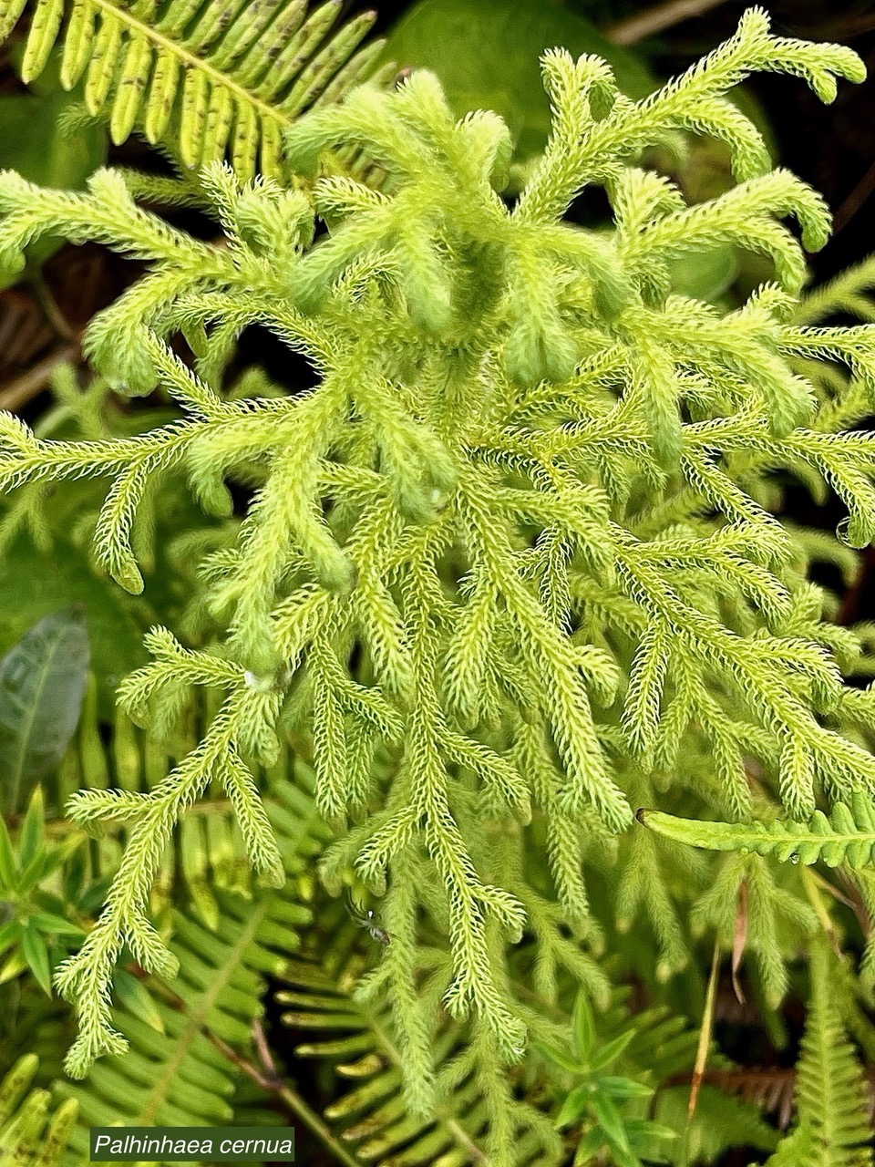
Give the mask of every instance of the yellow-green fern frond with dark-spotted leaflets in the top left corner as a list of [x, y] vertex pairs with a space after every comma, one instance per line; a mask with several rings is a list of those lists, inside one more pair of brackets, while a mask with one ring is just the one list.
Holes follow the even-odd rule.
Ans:
[[139, 130], [187, 167], [228, 155], [243, 180], [284, 174], [284, 131], [368, 79], [382, 48], [356, 51], [373, 14], [335, 27], [338, 0], [312, 12], [307, 0], [2, 0], [0, 41], [26, 9], [26, 82], [61, 42], [62, 84], [84, 79], [89, 112], [108, 120], [114, 142]]

